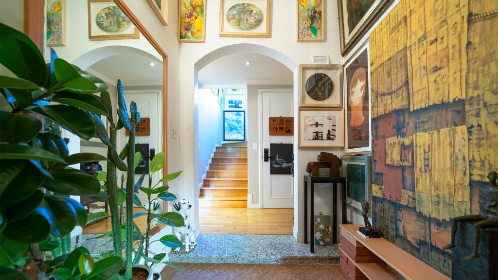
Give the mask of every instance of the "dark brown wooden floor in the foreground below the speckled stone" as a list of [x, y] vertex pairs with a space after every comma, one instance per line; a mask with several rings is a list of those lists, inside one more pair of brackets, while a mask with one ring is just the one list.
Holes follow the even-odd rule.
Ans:
[[177, 264], [166, 267], [163, 280], [345, 280], [339, 265]]

